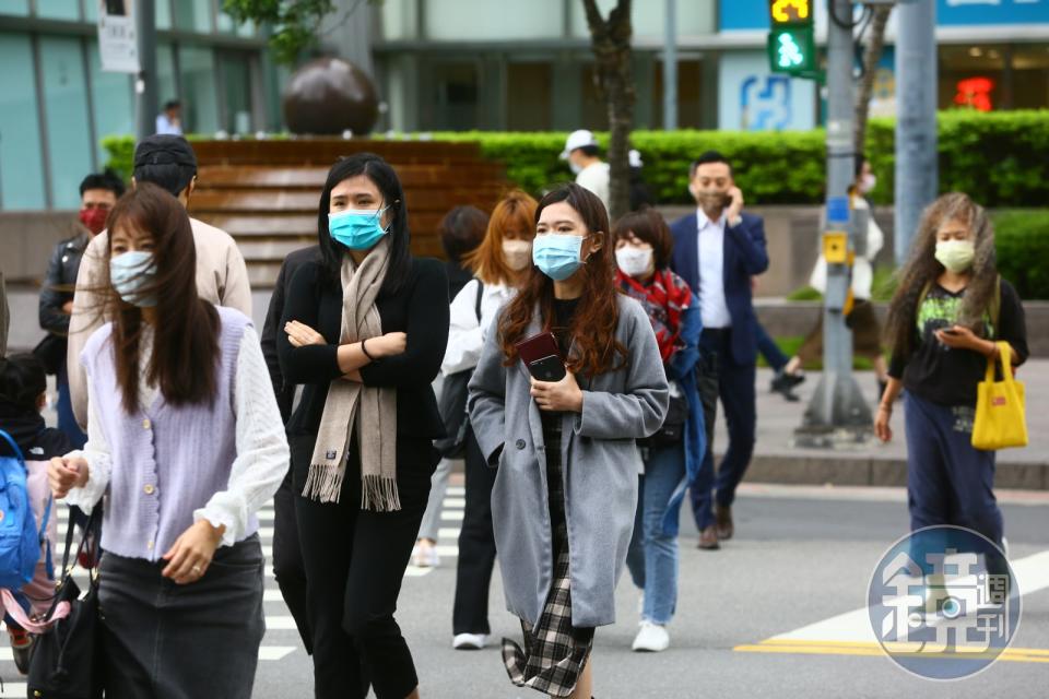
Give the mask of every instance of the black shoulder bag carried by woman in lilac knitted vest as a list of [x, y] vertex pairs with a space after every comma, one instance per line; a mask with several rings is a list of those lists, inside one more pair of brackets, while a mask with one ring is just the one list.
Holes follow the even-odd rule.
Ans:
[[[84, 528], [73, 561], [80, 558], [87, 538], [98, 532], [102, 503], [95, 506]], [[89, 571], [87, 594], [81, 599], [80, 587], [69, 567], [75, 525], [72, 519], [66, 533], [66, 553], [62, 555], [62, 580], [47, 620], [61, 602], [70, 605], [69, 616], [58, 619], [37, 637], [30, 659], [28, 696], [44, 699], [102, 699], [102, 619], [98, 608], [97, 567]]]

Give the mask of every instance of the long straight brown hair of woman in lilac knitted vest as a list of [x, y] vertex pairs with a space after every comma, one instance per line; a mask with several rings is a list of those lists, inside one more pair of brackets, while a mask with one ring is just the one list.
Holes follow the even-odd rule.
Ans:
[[142, 309], [120, 298], [109, 277], [114, 234], [143, 233], [153, 238], [156, 276], [142, 287], [156, 298], [153, 356], [145, 377], [170, 405], [214, 401], [219, 374], [219, 312], [197, 295], [197, 248], [189, 215], [174, 197], [155, 185], [139, 183], [109, 212], [106, 222], [106, 317], [113, 319], [117, 383], [123, 408], [139, 408], [139, 344]]

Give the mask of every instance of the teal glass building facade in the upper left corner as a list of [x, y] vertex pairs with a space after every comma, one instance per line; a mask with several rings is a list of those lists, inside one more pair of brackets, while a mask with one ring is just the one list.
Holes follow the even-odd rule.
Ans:
[[[266, 40], [221, 0], [156, 0], [158, 99], [187, 133], [280, 128]], [[134, 132], [134, 78], [102, 70], [99, 0], [0, 0], [0, 210], [75, 209], [107, 159], [102, 139]]]

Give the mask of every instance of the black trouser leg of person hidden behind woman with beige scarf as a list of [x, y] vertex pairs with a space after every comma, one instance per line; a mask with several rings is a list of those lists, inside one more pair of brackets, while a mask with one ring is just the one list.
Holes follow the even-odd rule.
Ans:
[[292, 471], [273, 496], [273, 577], [281, 596], [295, 619], [295, 627], [307, 653], [314, 652], [314, 632], [307, 609], [306, 566], [298, 546], [298, 522], [295, 519], [295, 489]]

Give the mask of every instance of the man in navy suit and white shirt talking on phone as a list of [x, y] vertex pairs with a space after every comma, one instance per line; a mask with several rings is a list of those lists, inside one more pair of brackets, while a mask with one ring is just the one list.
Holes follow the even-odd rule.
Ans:
[[[735, 186], [732, 166], [723, 155], [709, 151], [699, 156], [692, 165], [688, 189], [698, 209], [671, 225], [671, 266], [688, 282], [702, 308], [697, 371], [707, 453], [692, 489], [692, 506], [700, 532], [699, 547], [717, 549], [721, 540], [733, 534], [735, 488], [754, 452], [757, 320], [751, 277], [768, 269], [768, 253], [765, 224], [759, 216], [743, 213], [743, 192]], [[718, 399], [729, 427], [729, 448], [715, 476]]]

